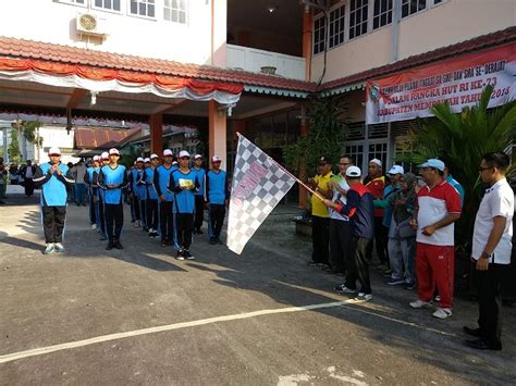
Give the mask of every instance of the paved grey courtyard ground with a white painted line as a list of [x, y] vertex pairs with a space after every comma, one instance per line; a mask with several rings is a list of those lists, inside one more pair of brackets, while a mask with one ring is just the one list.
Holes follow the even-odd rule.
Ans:
[[179, 262], [128, 219], [125, 249], [106, 251], [74, 206], [67, 253], [44, 257], [37, 198], [10, 202], [0, 207], [2, 385], [514, 383], [514, 308], [504, 350], [476, 352], [460, 332], [475, 302], [456, 299], [439, 321], [378, 274], [372, 301], [347, 301], [331, 290], [340, 277], [306, 265], [295, 208], [274, 211], [242, 257], [198, 236], [197, 260]]

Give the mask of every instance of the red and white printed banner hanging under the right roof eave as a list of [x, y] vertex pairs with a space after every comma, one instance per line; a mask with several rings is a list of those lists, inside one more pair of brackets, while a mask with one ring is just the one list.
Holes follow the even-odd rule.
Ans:
[[488, 85], [494, 87], [489, 107], [516, 98], [516, 43], [367, 82], [366, 124], [431, 116], [433, 104], [445, 101], [459, 112]]

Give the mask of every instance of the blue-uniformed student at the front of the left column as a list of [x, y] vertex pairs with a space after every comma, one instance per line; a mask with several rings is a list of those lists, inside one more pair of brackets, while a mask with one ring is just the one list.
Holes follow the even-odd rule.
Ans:
[[107, 250], [123, 249], [120, 242], [124, 223], [124, 207], [122, 189], [128, 185], [127, 173], [124, 165], [119, 165], [120, 152], [118, 149], [109, 150], [109, 164], [102, 166], [99, 173], [98, 185], [105, 190], [105, 216], [108, 234]]

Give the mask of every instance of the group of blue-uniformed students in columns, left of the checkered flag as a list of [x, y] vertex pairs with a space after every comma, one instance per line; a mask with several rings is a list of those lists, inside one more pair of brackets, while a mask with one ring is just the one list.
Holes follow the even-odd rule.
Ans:
[[173, 246], [177, 260], [195, 259], [191, 252], [193, 235], [202, 235], [205, 208], [209, 212], [211, 245], [222, 244], [220, 234], [229, 203], [228, 174], [220, 169], [221, 158], [211, 159], [211, 170], [202, 167], [204, 158], [182, 150], [177, 157], [165, 149], [158, 154], [138, 157], [131, 170], [119, 164], [120, 152], [110, 149], [93, 158], [84, 175], [90, 195], [89, 221], [107, 250], [123, 249], [123, 203], [131, 206], [132, 223], [161, 246]]

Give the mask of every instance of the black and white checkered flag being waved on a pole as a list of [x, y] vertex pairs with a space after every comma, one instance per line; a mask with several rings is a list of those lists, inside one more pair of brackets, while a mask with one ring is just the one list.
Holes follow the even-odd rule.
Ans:
[[231, 186], [228, 247], [241, 254], [296, 178], [243, 135], [238, 135]]

